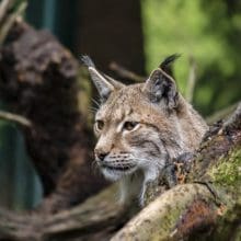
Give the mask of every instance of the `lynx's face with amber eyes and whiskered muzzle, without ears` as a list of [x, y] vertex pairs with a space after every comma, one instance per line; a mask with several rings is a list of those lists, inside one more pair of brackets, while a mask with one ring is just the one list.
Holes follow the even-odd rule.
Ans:
[[107, 179], [119, 180], [137, 170], [154, 179], [165, 164], [168, 152], [152, 119], [158, 110], [149, 106], [140, 89], [135, 84], [113, 92], [96, 113], [94, 151]]

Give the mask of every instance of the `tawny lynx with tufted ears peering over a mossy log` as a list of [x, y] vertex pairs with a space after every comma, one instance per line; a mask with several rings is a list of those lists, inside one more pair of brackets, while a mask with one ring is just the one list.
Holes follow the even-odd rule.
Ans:
[[125, 85], [82, 56], [101, 96], [95, 115], [95, 160], [104, 176], [120, 182], [120, 202], [139, 198], [172, 160], [198, 147], [204, 119], [177, 92], [168, 57], [144, 83]]

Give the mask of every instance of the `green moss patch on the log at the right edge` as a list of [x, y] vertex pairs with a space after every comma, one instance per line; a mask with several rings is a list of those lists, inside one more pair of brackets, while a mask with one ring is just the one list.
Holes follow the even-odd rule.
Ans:
[[241, 148], [232, 150], [228, 157], [222, 157], [208, 172], [211, 181], [222, 186], [237, 187], [241, 185]]

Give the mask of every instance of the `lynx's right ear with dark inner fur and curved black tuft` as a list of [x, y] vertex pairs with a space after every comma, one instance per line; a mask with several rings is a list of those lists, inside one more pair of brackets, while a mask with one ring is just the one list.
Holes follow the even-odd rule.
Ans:
[[163, 69], [167, 69], [176, 57], [176, 55], [168, 57], [160, 65], [160, 68], [152, 71], [144, 87], [144, 92], [147, 93], [151, 102], [159, 103], [163, 101], [169, 110], [177, 106], [179, 93], [174, 79]]

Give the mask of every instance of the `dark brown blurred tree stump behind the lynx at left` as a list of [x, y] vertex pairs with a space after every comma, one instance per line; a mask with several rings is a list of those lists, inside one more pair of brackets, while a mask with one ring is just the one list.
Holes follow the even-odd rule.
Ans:
[[19, 21], [7, 43], [0, 59], [1, 100], [32, 123], [24, 136], [48, 196], [42, 209], [57, 211], [105, 183], [92, 171], [93, 135], [80, 108], [88, 108], [82, 88], [88, 80], [72, 55], [46, 31]]

